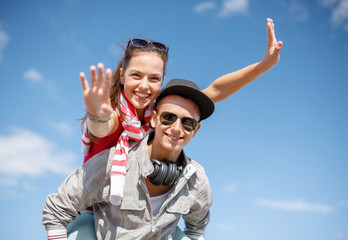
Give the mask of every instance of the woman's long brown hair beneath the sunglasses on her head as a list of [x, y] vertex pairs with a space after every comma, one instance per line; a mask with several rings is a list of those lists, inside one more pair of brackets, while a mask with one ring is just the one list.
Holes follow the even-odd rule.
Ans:
[[[123, 84], [121, 82], [121, 68], [122, 71], [125, 72], [130, 60], [141, 53], [157, 53], [158, 56], [161, 57], [163, 60], [163, 79], [164, 75], [167, 71], [167, 61], [168, 61], [168, 53], [158, 50], [153, 44], [148, 44], [144, 47], [137, 47], [134, 45], [129, 45], [127, 48], [122, 47], [122, 50], [124, 52], [122, 59], [118, 63], [117, 67], [112, 73], [112, 82], [111, 82], [111, 89], [110, 89], [110, 100], [111, 100], [111, 106], [114, 108], [115, 106], [118, 109], [121, 109], [120, 107], [120, 95], [122, 93]], [[162, 81], [163, 81], [162, 79]], [[124, 116], [124, 113], [120, 111], [121, 116]], [[87, 116], [85, 115], [82, 119], [81, 127], [83, 126], [84, 122], [86, 121]], [[89, 132], [87, 132], [88, 136], [91, 138], [92, 141], [95, 141], [96, 138]]]

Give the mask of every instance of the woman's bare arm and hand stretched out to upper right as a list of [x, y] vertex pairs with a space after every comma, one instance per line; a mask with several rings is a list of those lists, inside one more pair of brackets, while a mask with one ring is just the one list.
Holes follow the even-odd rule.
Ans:
[[282, 46], [283, 42], [277, 41], [275, 37], [273, 20], [267, 18], [267, 48], [265, 57], [260, 62], [216, 79], [202, 92], [207, 94], [214, 103], [225, 100], [274, 67], [278, 63], [279, 51]]

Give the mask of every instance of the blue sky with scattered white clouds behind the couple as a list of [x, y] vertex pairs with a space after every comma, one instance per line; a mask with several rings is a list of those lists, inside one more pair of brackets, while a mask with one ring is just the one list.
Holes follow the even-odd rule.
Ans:
[[279, 64], [186, 148], [213, 190], [206, 238], [348, 239], [347, 0], [1, 1], [2, 238], [45, 239], [45, 198], [82, 164], [79, 72], [150, 38], [170, 46], [165, 82], [205, 88], [263, 58], [267, 17]]

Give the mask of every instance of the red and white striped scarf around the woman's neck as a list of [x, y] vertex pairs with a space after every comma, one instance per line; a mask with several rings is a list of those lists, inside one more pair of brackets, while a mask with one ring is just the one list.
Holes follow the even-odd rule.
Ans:
[[[123, 190], [126, 181], [126, 164], [128, 160], [129, 140], [140, 141], [150, 130], [151, 112], [155, 107], [155, 101], [145, 109], [144, 125], [138, 118], [136, 109], [132, 103], [125, 97], [124, 92], [120, 96], [121, 111], [125, 114], [125, 119], [121, 117], [119, 109], [116, 109], [119, 115], [120, 122], [123, 127], [123, 132], [120, 135], [114, 159], [111, 167], [110, 176], [110, 202], [113, 205], [119, 205], [123, 199]], [[82, 153], [88, 154], [90, 139], [84, 134], [82, 136]]]

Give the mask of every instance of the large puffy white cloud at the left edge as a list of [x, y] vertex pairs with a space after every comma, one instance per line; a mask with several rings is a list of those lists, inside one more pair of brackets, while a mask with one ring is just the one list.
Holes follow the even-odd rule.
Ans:
[[[49, 173], [67, 175], [77, 160], [74, 153], [59, 149], [53, 142], [26, 129], [0, 135], [0, 146], [0, 174], [9, 179]], [[15, 184], [13, 180], [8, 183]]]

